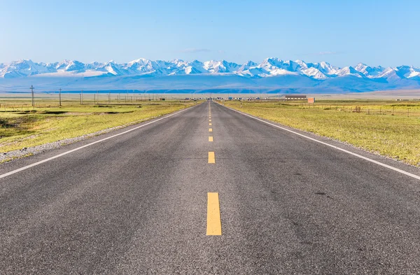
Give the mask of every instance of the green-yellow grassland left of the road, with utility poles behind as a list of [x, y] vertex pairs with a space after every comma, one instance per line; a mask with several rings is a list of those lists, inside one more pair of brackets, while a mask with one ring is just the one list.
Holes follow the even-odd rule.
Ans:
[[94, 104], [67, 100], [62, 107], [49, 99], [32, 108], [27, 99], [0, 101], [0, 152], [91, 134], [110, 127], [130, 125], [197, 104], [195, 101], [130, 101]]

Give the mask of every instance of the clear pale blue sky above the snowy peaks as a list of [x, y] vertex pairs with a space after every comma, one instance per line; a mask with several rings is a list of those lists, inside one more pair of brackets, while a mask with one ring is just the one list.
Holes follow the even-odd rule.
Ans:
[[266, 57], [420, 66], [420, 1], [0, 0], [0, 62]]

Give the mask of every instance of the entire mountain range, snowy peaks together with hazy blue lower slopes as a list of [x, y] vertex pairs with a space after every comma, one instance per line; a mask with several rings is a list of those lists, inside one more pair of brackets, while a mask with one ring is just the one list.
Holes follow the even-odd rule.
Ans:
[[[252, 61], [236, 64], [225, 60], [186, 62], [179, 59], [152, 61], [144, 58], [123, 64], [113, 61], [83, 63], [76, 60], [37, 63], [27, 59], [8, 64], [0, 63], [0, 88], [4, 87], [3, 82], [7, 83], [10, 89], [13, 83], [18, 83], [18, 80], [21, 82], [22, 78], [41, 84], [45, 83], [41, 78], [48, 78], [48, 87], [52, 87], [52, 83], [70, 86], [71, 83], [75, 83], [75, 79], [81, 78], [83, 81], [81, 83], [78, 81], [79, 86], [83, 84], [92, 87], [99, 84], [105, 87], [105, 83], [113, 88], [146, 85], [152, 89], [185, 87], [219, 89], [262, 85], [279, 89], [328, 88], [337, 91], [363, 92], [402, 87], [419, 88], [420, 68], [414, 66], [385, 68], [367, 66], [363, 63], [340, 68], [327, 62], [284, 61], [275, 57], [264, 59], [260, 64]], [[197, 81], [199, 79], [203, 80], [203, 87], [199, 87], [200, 81]]]

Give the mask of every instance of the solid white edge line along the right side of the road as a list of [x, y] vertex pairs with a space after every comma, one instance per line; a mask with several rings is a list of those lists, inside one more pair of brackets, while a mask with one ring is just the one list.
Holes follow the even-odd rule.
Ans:
[[[221, 105], [221, 104], [219, 104], [219, 105]], [[313, 139], [313, 138], [311, 138], [311, 137], [309, 137], [309, 136], [305, 136], [304, 134], [300, 134], [300, 133], [297, 133], [297, 132], [292, 131], [292, 130], [290, 130], [290, 129], [287, 129], [287, 128], [284, 128], [284, 127], [281, 127], [281, 126], [279, 126], [279, 125], [275, 125], [275, 124], [270, 123], [270, 122], [267, 122], [267, 121], [265, 121], [265, 120], [261, 120], [260, 118], [255, 118], [253, 115], [248, 115], [247, 113], [242, 113], [241, 111], [237, 111], [237, 110], [235, 110], [234, 108], [230, 108], [230, 107], [227, 107], [227, 106], [224, 106], [224, 105], [221, 105], [221, 106], [223, 106], [223, 107], [225, 107], [225, 108], [228, 108], [228, 109], [230, 109], [230, 110], [232, 110], [232, 111], [235, 111], [235, 112], [237, 112], [237, 113], [240, 113], [240, 114], [242, 114], [242, 115], [246, 115], [246, 116], [248, 116], [249, 118], [253, 118], [254, 120], [258, 120], [258, 121], [260, 121], [260, 122], [264, 122], [265, 124], [268, 124], [268, 125], [271, 125], [271, 126], [277, 127], [277, 128], [282, 129], [282, 130], [284, 130], [284, 131], [287, 131], [287, 132], [290, 132], [290, 133], [293, 133], [293, 134], [297, 134], [298, 136], [302, 136], [302, 137], [304, 137], [305, 139], [310, 139], [311, 141], [315, 141], [315, 142], [321, 143], [321, 144], [323, 144], [323, 145], [325, 145], [325, 146], [329, 146], [329, 147], [331, 147], [331, 148], [335, 148], [335, 149], [340, 150], [340, 151], [342, 151], [342, 152], [344, 152], [344, 153], [347, 153], [347, 154], [349, 154], [349, 155], [353, 155], [353, 156], [355, 156], [355, 157], [360, 157], [361, 159], [363, 159], [363, 160], [367, 160], [368, 162], [373, 162], [374, 164], [378, 164], [378, 165], [380, 165], [381, 167], [386, 167], [386, 168], [391, 169], [391, 170], [393, 170], [393, 171], [397, 171], [397, 172], [399, 172], [399, 173], [401, 173], [401, 174], [405, 174], [406, 176], [411, 176], [412, 178], [416, 178], [417, 180], [419, 180], [419, 181], [420, 181], [420, 176], [417, 176], [417, 175], [411, 174], [411, 173], [409, 173], [409, 172], [407, 172], [407, 171], [404, 171], [404, 170], [401, 170], [401, 169], [398, 169], [398, 168], [392, 167], [391, 165], [384, 164], [384, 163], [382, 163], [382, 162], [378, 162], [378, 161], [376, 161], [376, 160], [372, 160], [372, 159], [370, 159], [369, 157], [363, 157], [363, 155], [358, 155], [358, 154], [353, 153], [353, 152], [351, 152], [351, 151], [349, 151], [349, 150], [346, 150], [346, 149], [343, 149], [343, 148], [339, 148], [339, 147], [337, 147], [337, 146], [333, 146], [333, 145], [331, 145], [331, 144], [329, 144], [329, 143], [325, 143], [325, 142], [323, 142], [323, 141], [318, 141], [318, 139]]]

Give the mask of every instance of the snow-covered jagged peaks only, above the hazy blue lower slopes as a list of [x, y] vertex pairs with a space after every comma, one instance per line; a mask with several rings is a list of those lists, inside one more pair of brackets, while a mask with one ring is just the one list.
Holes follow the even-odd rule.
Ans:
[[327, 62], [306, 63], [302, 60], [283, 61], [279, 58], [267, 58], [260, 64], [248, 61], [244, 64], [233, 62], [207, 61], [186, 62], [179, 59], [172, 61], [148, 60], [144, 58], [118, 64], [113, 62], [82, 63], [76, 60], [64, 60], [55, 63], [36, 63], [22, 59], [9, 64], [0, 64], [0, 78], [21, 78], [26, 76], [174, 76], [196, 73], [223, 74], [231, 73], [244, 77], [269, 77], [281, 75], [302, 75], [318, 80], [340, 76], [359, 78], [401, 78], [420, 80], [420, 68], [398, 66], [384, 68], [372, 67], [359, 63], [356, 66], [339, 68]]

